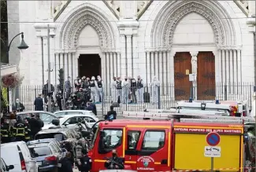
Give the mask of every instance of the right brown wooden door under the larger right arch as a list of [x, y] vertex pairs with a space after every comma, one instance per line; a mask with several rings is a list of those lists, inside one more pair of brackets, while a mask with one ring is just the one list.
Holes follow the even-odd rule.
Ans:
[[197, 99], [215, 100], [215, 57], [212, 52], [198, 53]]

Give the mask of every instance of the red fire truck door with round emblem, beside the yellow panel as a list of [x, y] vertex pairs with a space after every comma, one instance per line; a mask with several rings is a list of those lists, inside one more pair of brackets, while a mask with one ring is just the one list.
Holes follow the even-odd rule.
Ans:
[[170, 134], [168, 129], [145, 129], [139, 142], [138, 171], [170, 170]]

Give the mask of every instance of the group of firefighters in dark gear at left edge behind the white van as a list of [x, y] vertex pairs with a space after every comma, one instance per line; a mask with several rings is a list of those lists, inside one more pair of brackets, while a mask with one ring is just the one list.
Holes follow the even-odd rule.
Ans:
[[11, 112], [9, 119], [5, 117], [1, 119], [2, 143], [30, 141], [44, 126], [39, 115], [32, 114], [28, 118], [22, 119], [21, 116], [17, 116], [16, 113], [16, 111]]

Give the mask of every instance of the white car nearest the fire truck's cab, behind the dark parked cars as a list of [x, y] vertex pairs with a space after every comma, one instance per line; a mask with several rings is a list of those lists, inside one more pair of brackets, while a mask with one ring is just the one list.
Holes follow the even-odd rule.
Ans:
[[[90, 112], [90, 111], [88, 111], [88, 112]], [[60, 116], [59, 117], [59, 120], [60, 120], [59, 126], [74, 127], [74, 126], [76, 126], [76, 123], [78, 123], [78, 121], [79, 121], [78, 119], [85, 120], [90, 127], [98, 122], [98, 118], [94, 115], [93, 112], [91, 112], [91, 113], [87, 113], [87, 114]], [[43, 129], [49, 129], [50, 126], [55, 126], [55, 125], [51, 123], [51, 124], [47, 125], [48, 128], [43, 128]]]

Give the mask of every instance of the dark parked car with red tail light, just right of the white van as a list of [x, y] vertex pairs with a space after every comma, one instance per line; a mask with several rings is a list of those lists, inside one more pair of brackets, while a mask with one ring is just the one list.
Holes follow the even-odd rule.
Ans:
[[39, 165], [39, 172], [58, 172], [59, 160], [65, 157], [65, 151], [55, 138], [28, 141], [27, 145]]

